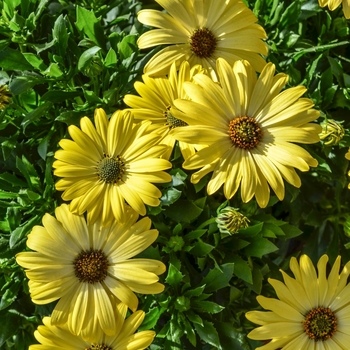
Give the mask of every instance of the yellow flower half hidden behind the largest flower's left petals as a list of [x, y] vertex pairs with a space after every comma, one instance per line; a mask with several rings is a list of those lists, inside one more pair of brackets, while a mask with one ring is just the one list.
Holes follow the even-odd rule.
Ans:
[[[161, 143], [168, 146], [168, 151], [163, 156], [166, 159], [170, 158], [176, 142], [169, 131], [187, 125], [173, 116], [172, 111], [175, 108], [173, 102], [177, 98], [188, 98], [183, 89], [183, 83], [191, 81], [192, 77], [201, 71], [200, 66], [191, 69], [188, 62], [185, 61], [177, 72], [176, 65], [173, 63], [168, 76], [153, 78], [146, 74], [143, 75], [144, 82], [135, 83], [135, 89], [140, 96], [126, 95], [124, 97], [124, 102], [133, 108], [134, 118], [152, 121], [155, 130], [162, 135]], [[194, 147], [186, 142], [179, 142], [179, 147], [185, 159], [195, 152]]]

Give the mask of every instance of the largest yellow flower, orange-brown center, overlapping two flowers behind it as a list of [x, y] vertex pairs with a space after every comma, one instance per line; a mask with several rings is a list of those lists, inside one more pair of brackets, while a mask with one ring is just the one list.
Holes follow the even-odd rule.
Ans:
[[192, 174], [197, 183], [213, 172], [207, 191], [211, 195], [224, 184], [230, 199], [241, 185], [243, 202], [254, 195], [260, 207], [270, 198], [270, 188], [284, 198], [284, 182], [300, 187], [294, 168], [301, 171], [316, 166], [316, 159], [294, 144], [319, 141], [321, 127], [309, 123], [319, 112], [313, 102], [300, 98], [306, 91], [297, 86], [281, 92], [287, 82], [285, 74], [275, 73], [268, 63], [257, 79], [247, 61], [233, 67], [218, 59], [220, 85], [197, 74], [194, 83], [184, 83], [191, 100], [175, 100], [175, 116], [189, 126], [172, 131], [180, 141], [207, 147], [184, 163], [185, 169], [202, 168]]

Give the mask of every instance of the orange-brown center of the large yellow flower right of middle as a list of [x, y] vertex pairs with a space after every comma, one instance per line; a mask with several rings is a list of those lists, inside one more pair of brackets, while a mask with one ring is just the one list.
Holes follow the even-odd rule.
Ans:
[[236, 147], [252, 149], [260, 142], [262, 131], [254, 118], [244, 116], [230, 121], [229, 135]]

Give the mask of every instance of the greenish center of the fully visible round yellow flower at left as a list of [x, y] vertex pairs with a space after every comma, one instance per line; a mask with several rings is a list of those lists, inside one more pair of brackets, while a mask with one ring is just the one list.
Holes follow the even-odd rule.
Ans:
[[125, 163], [120, 156], [111, 158], [108, 154], [105, 154], [105, 157], [97, 165], [98, 178], [108, 184], [116, 184], [122, 179], [125, 171], [124, 165]]

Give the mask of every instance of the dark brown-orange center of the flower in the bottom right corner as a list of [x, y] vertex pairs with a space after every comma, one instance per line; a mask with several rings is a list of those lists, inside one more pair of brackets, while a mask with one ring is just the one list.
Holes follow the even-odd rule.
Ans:
[[310, 339], [324, 341], [337, 331], [337, 318], [330, 308], [317, 307], [307, 313], [303, 326]]

